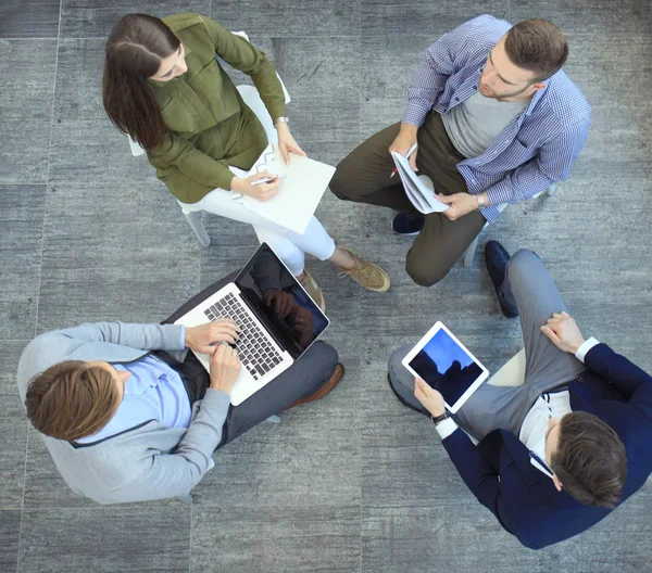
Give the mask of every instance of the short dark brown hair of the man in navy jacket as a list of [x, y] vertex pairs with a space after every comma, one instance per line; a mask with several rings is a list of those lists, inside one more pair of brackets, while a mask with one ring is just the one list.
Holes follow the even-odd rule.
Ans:
[[560, 443], [550, 466], [568, 494], [585, 506], [615, 508], [627, 479], [627, 454], [618, 434], [592, 413], [560, 421]]

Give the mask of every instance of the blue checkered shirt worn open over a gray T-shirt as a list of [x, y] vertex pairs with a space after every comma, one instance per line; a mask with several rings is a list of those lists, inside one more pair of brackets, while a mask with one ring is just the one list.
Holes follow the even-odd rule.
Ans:
[[[489, 52], [511, 27], [503, 20], [478, 16], [430, 46], [408, 90], [403, 123], [421, 127], [428, 112], [447, 114], [473, 96]], [[485, 218], [494, 222], [498, 205], [530, 199], [567, 179], [590, 124], [591, 106], [568, 76], [557, 72], [485, 153], [457, 164], [469, 193], [487, 191]]]

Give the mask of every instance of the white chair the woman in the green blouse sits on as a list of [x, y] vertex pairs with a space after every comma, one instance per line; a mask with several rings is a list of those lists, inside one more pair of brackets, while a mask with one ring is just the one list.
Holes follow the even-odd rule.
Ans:
[[[235, 36], [240, 36], [241, 38], [244, 38], [247, 41], [250, 41], [249, 36], [247, 36], [244, 31], [234, 31], [233, 34]], [[225, 65], [225, 62], [224, 60], [222, 60], [222, 58], [215, 56], [215, 59], [222, 65]], [[280, 81], [280, 87], [283, 88], [285, 102], [290, 103], [290, 94], [288, 93], [288, 90], [286, 89], [283, 79], [280, 79], [280, 76], [278, 74], [276, 74], [276, 76]], [[263, 104], [258, 90], [252, 86], [236, 86], [236, 89], [240, 92], [240, 97], [242, 98], [244, 103], [251, 109], [251, 111], [255, 114], [255, 116], [263, 125], [265, 133], [267, 133], [267, 139], [269, 143], [278, 143], [278, 133], [274, 128], [272, 117], [265, 109], [265, 105]], [[129, 140], [131, 155], [138, 157], [139, 155], [145, 154], [145, 150], [138, 143], [136, 143], [129, 136], [127, 136], [127, 139]], [[184, 214], [186, 220], [188, 221], [188, 225], [197, 235], [197, 239], [199, 240], [200, 244], [204, 247], [209, 246], [211, 244], [211, 238], [209, 237], [209, 233], [206, 232], [201, 220], [201, 209], [193, 208], [191, 203], [181, 203], [180, 201], [177, 201], [177, 203], [181, 207], [181, 213]]]

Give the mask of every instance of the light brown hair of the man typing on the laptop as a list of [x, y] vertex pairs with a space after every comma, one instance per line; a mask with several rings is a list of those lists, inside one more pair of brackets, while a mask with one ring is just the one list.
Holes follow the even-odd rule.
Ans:
[[25, 406], [39, 432], [78, 440], [104, 428], [121, 400], [110, 372], [82, 360], [66, 360], [32, 379]]

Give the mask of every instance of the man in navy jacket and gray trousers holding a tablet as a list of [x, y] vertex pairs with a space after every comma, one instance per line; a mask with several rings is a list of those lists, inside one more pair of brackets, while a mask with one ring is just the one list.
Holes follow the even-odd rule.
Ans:
[[[652, 377], [585, 340], [541, 259], [491, 241], [487, 266], [505, 316], [521, 317], [522, 386], [481, 385], [454, 419], [441, 394], [390, 358], [399, 399], [429, 415], [460, 475], [531, 549], [573, 537], [640, 489], [652, 472]], [[464, 430], [479, 440], [474, 445]]]

